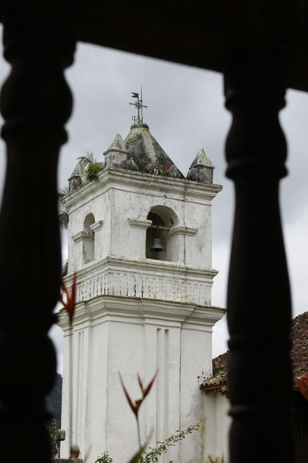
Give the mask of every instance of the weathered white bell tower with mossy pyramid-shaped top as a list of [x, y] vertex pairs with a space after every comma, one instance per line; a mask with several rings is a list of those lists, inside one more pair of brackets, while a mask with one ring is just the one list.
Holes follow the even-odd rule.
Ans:
[[[187, 179], [151, 135], [134, 124], [104, 153], [97, 180], [79, 163], [69, 179], [68, 288], [77, 270], [76, 309], [64, 309], [62, 423], [66, 441], [95, 462], [103, 451], [126, 463], [138, 450], [132, 399], [158, 370], [139, 412], [142, 439], [155, 446], [201, 417], [197, 376], [211, 374], [212, 326], [224, 310], [211, 306], [213, 165], [203, 150]], [[154, 238], [163, 250], [151, 250]], [[202, 436], [201, 436], [202, 437]], [[171, 447], [162, 461], [199, 461], [200, 433]], [[64, 450], [62, 450], [64, 449]]]

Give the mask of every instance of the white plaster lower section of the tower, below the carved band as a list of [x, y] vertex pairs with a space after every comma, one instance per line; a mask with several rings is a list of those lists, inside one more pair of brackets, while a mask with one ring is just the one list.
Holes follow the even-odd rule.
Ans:
[[[152, 434], [151, 445], [200, 419], [198, 368], [204, 363], [205, 350], [211, 349], [211, 327], [222, 315], [218, 307], [103, 295], [77, 304], [72, 330], [66, 311], [60, 311], [58, 324], [66, 340], [63, 404], [72, 410], [71, 442], [82, 444], [87, 459], [95, 461], [107, 449], [115, 461], [124, 463], [136, 450], [135, 418], [118, 372], [132, 398], [137, 399], [137, 373], [147, 383], [159, 370], [140, 410], [142, 436], [146, 440]], [[72, 394], [67, 358], [70, 345]], [[62, 426], [70, 429], [67, 410]], [[195, 440], [194, 435], [191, 438]], [[62, 449], [66, 446], [69, 450], [69, 440]], [[191, 444], [183, 446], [180, 460], [179, 449], [172, 448], [169, 457], [193, 461], [187, 460], [188, 450], [193, 455]]]

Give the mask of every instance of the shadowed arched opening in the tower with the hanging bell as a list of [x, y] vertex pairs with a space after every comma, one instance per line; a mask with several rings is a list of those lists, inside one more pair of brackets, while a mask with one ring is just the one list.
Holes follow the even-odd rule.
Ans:
[[[178, 224], [178, 218], [176, 214], [169, 207], [154, 206], [148, 213], [147, 219], [152, 221], [152, 226], [149, 227], [146, 231], [145, 257], [147, 259], [172, 262], [173, 259], [171, 258], [167, 250], [167, 241], [164, 237], [164, 232], [166, 230], [169, 230], [170, 227]], [[153, 228], [153, 225], [155, 226], [155, 228]], [[159, 227], [158, 233], [157, 225]], [[153, 241], [156, 237], [160, 239], [160, 242], [164, 250], [157, 252], [157, 254], [154, 254], [153, 251], [151, 251], [150, 249], [153, 246]]]

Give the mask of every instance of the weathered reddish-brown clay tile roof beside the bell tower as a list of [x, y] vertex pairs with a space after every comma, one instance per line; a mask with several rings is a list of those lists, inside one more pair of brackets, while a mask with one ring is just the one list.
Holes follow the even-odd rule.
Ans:
[[[298, 315], [291, 323], [290, 339], [292, 348], [290, 357], [293, 377], [304, 378], [308, 372], [308, 312]], [[213, 358], [213, 376], [205, 379], [200, 384], [200, 389], [216, 389], [224, 395], [228, 395], [228, 361], [229, 350], [224, 354]]]

